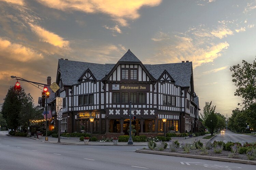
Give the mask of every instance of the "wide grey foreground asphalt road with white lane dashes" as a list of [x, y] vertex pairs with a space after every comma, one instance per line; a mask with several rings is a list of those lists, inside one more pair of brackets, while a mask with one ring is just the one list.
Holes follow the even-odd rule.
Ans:
[[141, 146], [45, 143], [0, 132], [0, 170], [255, 169], [255, 165], [136, 153]]

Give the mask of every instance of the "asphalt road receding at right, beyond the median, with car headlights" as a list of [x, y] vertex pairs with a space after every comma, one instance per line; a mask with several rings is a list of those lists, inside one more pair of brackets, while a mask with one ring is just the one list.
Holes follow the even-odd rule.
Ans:
[[213, 139], [211, 139], [211, 142], [214, 140], [216, 141], [224, 141], [227, 143], [228, 141], [231, 142], [240, 142], [242, 145], [245, 142], [256, 142], [256, 137], [255, 136], [249, 136], [249, 135], [243, 135], [243, 134], [237, 134], [233, 133], [231, 131], [225, 131], [225, 133], [220, 133], [217, 136], [215, 136]]

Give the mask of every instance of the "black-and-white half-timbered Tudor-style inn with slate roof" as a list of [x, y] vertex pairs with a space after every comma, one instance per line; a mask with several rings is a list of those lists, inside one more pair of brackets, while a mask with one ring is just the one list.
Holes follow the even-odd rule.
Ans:
[[[166, 132], [198, 131], [192, 62], [143, 64], [130, 50], [116, 64], [61, 58], [56, 83], [55, 97], [63, 98], [62, 132], [128, 134], [130, 101], [136, 135], [163, 132], [164, 117]], [[56, 116], [55, 100], [50, 105]]]

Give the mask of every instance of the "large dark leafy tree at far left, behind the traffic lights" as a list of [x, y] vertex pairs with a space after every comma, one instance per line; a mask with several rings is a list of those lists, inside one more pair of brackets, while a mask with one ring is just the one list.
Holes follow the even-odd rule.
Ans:
[[28, 127], [30, 119], [42, 117], [35, 110], [31, 95], [26, 94], [22, 87], [20, 88], [19, 94], [16, 94], [14, 86], [9, 88], [4, 98], [1, 113], [8, 127], [15, 131], [19, 126]]

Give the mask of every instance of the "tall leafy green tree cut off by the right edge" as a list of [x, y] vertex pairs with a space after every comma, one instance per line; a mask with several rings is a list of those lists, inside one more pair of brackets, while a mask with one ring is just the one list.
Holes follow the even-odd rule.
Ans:
[[234, 65], [230, 67], [230, 71], [233, 71], [232, 82], [238, 87], [234, 95], [241, 96], [243, 98], [242, 104], [247, 108], [256, 103], [256, 58], [252, 64], [244, 60], [242, 63], [242, 67], [239, 64]]

